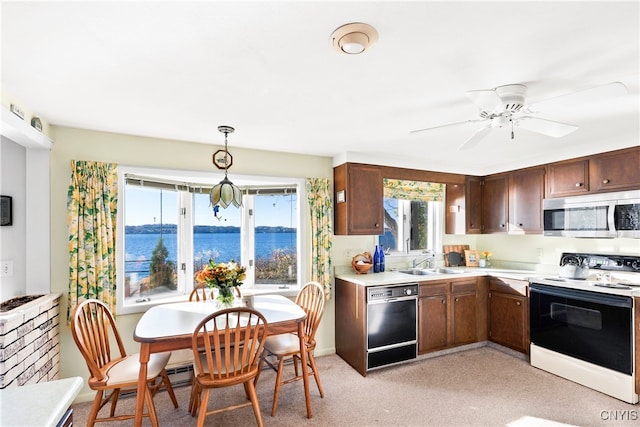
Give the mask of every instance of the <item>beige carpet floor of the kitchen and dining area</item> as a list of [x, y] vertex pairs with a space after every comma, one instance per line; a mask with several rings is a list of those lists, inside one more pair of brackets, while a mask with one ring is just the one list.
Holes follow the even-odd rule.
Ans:
[[[271, 417], [275, 374], [265, 369], [258, 398], [265, 426], [635, 426], [640, 405], [532, 368], [494, 347], [480, 347], [372, 371], [362, 377], [337, 355], [318, 357], [325, 397], [311, 383], [313, 418], [305, 414], [302, 383], [283, 387]], [[187, 413], [189, 387], [176, 388], [180, 407], [156, 396], [161, 426], [195, 426]], [[241, 402], [243, 388], [214, 391], [210, 402]], [[131, 409], [133, 398], [119, 409]], [[90, 403], [74, 405], [74, 425], [84, 426]], [[131, 425], [130, 422], [100, 423]], [[144, 425], [150, 425], [144, 420]], [[206, 419], [209, 426], [251, 426], [250, 407]]]

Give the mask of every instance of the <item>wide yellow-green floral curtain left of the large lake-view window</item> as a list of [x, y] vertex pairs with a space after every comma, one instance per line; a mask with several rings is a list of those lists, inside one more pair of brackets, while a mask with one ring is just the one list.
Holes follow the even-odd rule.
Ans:
[[85, 299], [97, 298], [116, 311], [117, 202], [116, 164], [71, 161], [67, 321]]

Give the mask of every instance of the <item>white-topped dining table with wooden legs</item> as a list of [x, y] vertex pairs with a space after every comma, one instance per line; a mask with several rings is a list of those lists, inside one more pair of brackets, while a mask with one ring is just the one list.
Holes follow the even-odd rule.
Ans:
[[[269, 335], [297, 332], [300, 340], [307, 418], [311, 418], [307, 354], [304, 351], [304, 320], [307, 317], [305, 311], [295, 302], [281, 295], [255, 295], [252, 308], [262, 313], [267, 320]], [[191, 337], [198, 323], [207, 315], [220, 309], [215, 300], [177, 302], [157, 305], [142, 315], [133, 334], [134, 341], [140, 343], [136, 426], [142, 425], [149, 355], [191, 348]]]

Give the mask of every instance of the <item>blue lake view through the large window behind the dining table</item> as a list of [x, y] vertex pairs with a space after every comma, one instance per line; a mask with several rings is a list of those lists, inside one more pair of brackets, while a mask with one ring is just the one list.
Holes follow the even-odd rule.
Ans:
[[[248, 269], [248, 284], [297, 283], [295, 192], [245, 196], [242, 208], [217, 212], [209, 206], [208, 194], [182, 193], [127, 186], [126, 299], [187, 292], [193, 274], [210, 259], [253, 266]], [[184, 212], [192, 214], [188, 221], [180, 221], [179, 206], [185, 200], [190, 205]], [[242, 209], [254, 218], [243, 220]], [[185, 226], [191, 229], [186, 231]], [[180, 283], [181, 273], [185, 283]]]

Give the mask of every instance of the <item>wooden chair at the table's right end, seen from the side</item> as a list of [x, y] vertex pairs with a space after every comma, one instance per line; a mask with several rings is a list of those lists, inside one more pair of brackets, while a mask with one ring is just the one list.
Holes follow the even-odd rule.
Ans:
[[[309, 282], [298, 292], [296, 297], [296, 304], [298, 304], [307, 313], [307, 318], [304, 321], [304, 343], [307, 353], [307, 368], [303, 371], [307, 372], [307, 375], [313, 374], [316, 385], [318, 386], [318, 392], [320, 397], [324, 397], [322, 390], [322, 382], [320, 381], [320, 375], [316, 366], [316, 361], [313, 358], [313, 350], [316, 348], [316, 331], [320, 320], [322, 320], [322, 314], [324, 311], [324, 289], [318, 282]], [[277, 366], [268, 360], [269, 356], [275, 356], [278, 360]], [[287, 379], [283, 379], [284, 363], [286, 360], [293, 360], [294, 376]], [[278, 397], [280, 395], [280, 387], [283, 384], [289, 384], [293, 381], [302, 379], [302, 374], [298, 371], [298, 360], [300, 360], [300, 340], [297, 334], [287, 333], [279, 334], [267, 337], [264, 344], [264, 351], [260, 357], [260, 369], [264, 363], [269, 365], [276, 374], [276, 385], [273, 393], [273, 406], [271, 407], [271, 416], [275, 416], [278, 409]], [[258, 382], [256, 377], [255, 383]]]

